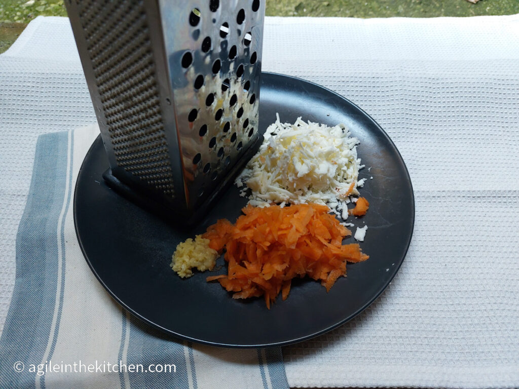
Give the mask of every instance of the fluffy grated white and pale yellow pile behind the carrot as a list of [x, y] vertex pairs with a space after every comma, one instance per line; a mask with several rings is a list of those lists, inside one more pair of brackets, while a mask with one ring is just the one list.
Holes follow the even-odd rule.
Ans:
[[[279, 115], [264, 135], [257, 154], [236, 179], [242, 196], [251, 189], [249, 204], [318, 203], [347, 217], [350, 196], [359, 196], [357, 138], [343, 124], [305, 122], [281, 123]], [[243, 185], [245, 184], [246, 187]], [[346, 217], [344, 217], [346, 216]]]

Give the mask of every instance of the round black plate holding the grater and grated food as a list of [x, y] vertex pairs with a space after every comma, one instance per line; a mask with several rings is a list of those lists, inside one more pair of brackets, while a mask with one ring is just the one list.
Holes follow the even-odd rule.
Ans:
[[[219, 218], [234, 222], [246, 200], [238, 196], [236, 187], [230, 187], [194, 230], [179, 231], [106, 187], [101, 175], [108, 161], [98, 137], [76, 184], [74, 220], [79, 244], [95, 276], [122, 306], [176, 337], [218, 346], [256, 347], [323, 334], [358, 315], [382, 293], [411, 242], [411, 180], [397, 148], [378, 124], [342, 96], [302, 79], [264, 73], [261, 88], [260, 131], [276, 120], [278, 112], [282, 121], [294, 122], [303, 116], [329, 125], [344, 123], [359, 138], [358, 154], [366, 165], [359, 177], [367, 178], [361, 193], [370, 202], [370, 210], [352, 221], [368, 225], [362, 249], [371, 258], [348, 265], [348, 276], [340, 277], [330, 293], [315, 281], [294, 282], [289, 298], [281, 301], [278, 297], [270, 310], [263, 299], [234, 300], [220, 284], [206, 283], [206, 276], [217, 272], [182, 280], [169, 266], [177, 243], [205, 231]], [[223, 264], [222, 258], [218, 264]]]

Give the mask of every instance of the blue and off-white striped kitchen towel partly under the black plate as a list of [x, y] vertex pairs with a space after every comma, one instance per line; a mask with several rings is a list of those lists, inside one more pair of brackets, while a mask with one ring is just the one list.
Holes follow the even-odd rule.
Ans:
[[0, 388], [288, 388], [281, 350], [219, 349], [139, 322], [90, 271], [75, 180], [97, 125], [41, 135], [0, 339]]

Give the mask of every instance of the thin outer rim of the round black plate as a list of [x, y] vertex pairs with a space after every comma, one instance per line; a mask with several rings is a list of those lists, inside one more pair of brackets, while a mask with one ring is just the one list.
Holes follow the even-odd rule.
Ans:
[[[346, 99], [343, 95], [341, 95], [341, 94], [339, 94], [339, 93], [337, 93], [337, 92], [335, 92], [335, 91], [333, 91], [331, 89], [328, 89], [326, 87], [323, 87], [322, 85], [316, 84], [315, 82], [312, 82], [312, 81], [309, 81], [309, 80], [305, 80], [303, 78], [294, 77], [294, 76], [290, 76], [290, 75], [285, 75], [285, 74], [281, 74], [281, 73], [262, 72], [261, 75], [262, 75], [262, 78], [264, 76], [272, 77], [272, 78], [279, 78], [279, 77], [281, 77], [281, 78], [287, 79], [289, 81], [292, 80], [292, 81], [296, 81], [296, 82], [303, 82], [303, 83], [306, 83], [306, 84], [310, 84], [313, 87], [318, 88], [321, 92], [325, 92], [327, 94], [333, 95], [335, 98], [339, 98], [340, 100], [342, 100], [343, 102], [347, 103], [348, 105], [351, 105], [352, 107], [358, 109], [359, 112], [361, 114], [363, 114], [377, 128], [377, 130], [380, 132], [380, 134], [382, 134], [384, 136], [385, 140], [389, 141], [389, 143], [393, 146], [394, 150], [397, 151], [397, 155], [398, 155], [398, 157], [399, 157], [399, 159], [400, 159], [400, 161], [402, 163], [405, 175], [407, 176], [407, 182], [409, 183], [409, 187], [411, 189], [411, 202], [409, 203], [409, 205], [412, 206], [411, 233], [409, 234], [407, 242], [405, 243], [405, 249], [404, 249], [404, 253], [403, 253], [402, 259], [399, 261], [398, 266], [394, 269], [394, 272], [391, 275], [391, 277], [386, 281], [386, 283], [381, 285], [381, 287], [378, 289], [377, 293], [374, 294], [373, 298], [370, 299], [368, 302], [366, 302], [364, 305], [362, 305], [362, 307], [360, 307], [358, 310], [356, 310], [352, 314], [348, 315], [347, 317], [345, 317], [344, 319], [340, 320], [339, 322], [332, 324], [329, 327], [326, 327], [326, 328], [321, 329], [321, 330], [319, 330], [317, 332], [313, 332], [312, 334], [309, 334], [309, 335], [306, 335], [306, 336], [303, 336], [303, 337], [299, 337], [299, 338], [296, 338], [296, 339], [290, 339], [290, 340], [280, 341], [280, 342], [275, 342], [275, 343], [246, 344], [246, 345], [244, 345], [244, 344], [228, 344], [228, 343], [218, 343], [218, 342], [211, 342], [211, 341], [207, 341], [207, 340], [196, 339], [196, 338], [189, 337], [189, 336], [186, 336], [186, 335], [183, 335], [183, 334], [179, 334], [178, 332], [175, 332], [175, 331], [173, 331], [171, 329], [162, 327], [162, 326], [154, 323], [150, 319], [144, 317], [140, 313], [134, 311], [130, 307], [128, 307], [128, 305], [124, 301], [122, 301], [110, 289], [110, 287], [108, 287], [108, 285], [106, 285], [106, 283], [101, 279], [101, 277], [99, 276], [97, 271], [95, 271], [95, 269], [94, 269], [90, 259], [87, 256], [87, 253], [85, 252], [84, 244], [81, 242], [81, 237], [80, 237], [80, 234], [78, 232], [78, 226], [77, 226], [77, 220], [76, 220], [76, 215], [77, 215], [77, 212], [76, 212], [76, 210], [77, 210], [77, 201], [76, 201], [76, 199], [77, 199], [77, 193], [78, 193], [77, 188], [78, 188], [78, 185], [79, 185], [78, 177], [80, 176], [81, 171], [84, 170], [86, 156], [88, 154], [90, 154], [90, 152], [91, 152], [92, 148], [94, 147], [95, 143], [101, 137], [101, 135], [99, 134], [95, 138], [95, 140], [92, 142], [92, 144], [90, 145], [87, 153], [85, 154], [85, 159], [83, 159], [83, 161], [81, 162], [81, 166], [80, 166], [79, 171], [77, 173], [76, 183], [75, 183], [75, 186], [74, 186], [74, 203], [73, 203], [74, 229], [75, 229], [75, 232], [76, 232], [76, 237], [77, 237], [77, 240], [78, 240], [78, 243], [79, 243], [79, 247], [81, 248], [81, 253], [83, 253], [83, 256], [85, 257], [85, 261], [88, 263], [88, 266], [89, 266], [90, 270], [92, 271], [92, 273], [94, 274], [95, 278], [101, 283], [101, 285], [108, 292], [108, 294], [110, 294], [110, 296], [112, 296], [112, 298], [114, 298], [115, 301], [119, 305], [121, 305], [121, 307], [123, 309], [125, 309], [128, 312], [130, 312], [133, 316], [139, 318], [142, 322], [146, 323], [147, 325], [150, 325], [150, 326], [152, 326], [152, 327], [154, 327], [156, 329], [159, 329], [160, 331], [162, 331], [163, 333], [165, 333], [165, 334], [167, 334], [169, 336], [172, 336], [172, 337], [175, 337], [175, 338], [180, 338], [180, 339], [187, 340], [187, 341], [191, 341], [191, 342], [194, 342], [194, 343], [206, 344], [206, 345], [216, 346], [216, 347], [221, 347], [221, 348], [256, 349], [256, 348], [270, 348], [270, 347], [286, 346], [286, 345], [290, 345], [290, 344], [295, 344], [295, 343], [303, 342], [305, 340], [309, 340], [309, 339], [318, 337], [320, 335], [326, 334], [326, 332], [329, 332], [329, 331], [331, 331], [331, 330], [333, 330], [333, 329], [335, 329], [337, 327], [340, 327], [343, 324], [349, 322], [354, 317], [358, 316], [360, 313], [362, 313], [364, 310], [366, 310], [368, 307], [370, 307], [370, 305], [373, 304], [373, 302], [375, 302], [380, 297], [380, 295], [382, 293], [384, 293], [386, 288], [389, 286], [389, 284], [391, 284], [391, 282], [393, 281], [394, 277], [399, 272], [400, 267], [402, 266], [402, 263], [404, 262], [404, 260], [405, 260], [405, 258], [407, 256], [407, 253], [408, 253], [408, 250], [409, 250], [409, 246], [411, 245], [411, 241], [413, 239], [413, 232], [414, 232], [414, 225], [415, 225], [415, 214], [416, 214], [415, 193], [414, 193], [414, 189], [413, 189], [413, 183], [411, 181], [411, 176], [409, 175], [409, 171], [407, 169], [407, 165], [405, 164], [405, 161], [404, 161], [402, 155], [400, 154], [400, 150], [397, 148], [397, 146], [391, 140], [391, 138], [386, 133], [386, 131], [383, 128], [381, 128], [380, 125], [369, 114], [367, 114], [362, 108], [360, 108], [357, 104], [354, 104], [350, 100]], [[275, 84], [275, 83], [273, 83], [273, 84]], [[261, 97], [260, 97], [260, 104], [261, 104]], [[102, 142], [102, 140], [101, 140], [101, 142]]]

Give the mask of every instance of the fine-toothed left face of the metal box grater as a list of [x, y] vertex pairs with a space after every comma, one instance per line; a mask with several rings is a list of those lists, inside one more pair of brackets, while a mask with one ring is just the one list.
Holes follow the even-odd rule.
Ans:
[[117, 164], [173, 197], [143, 2], [77, 4]]

